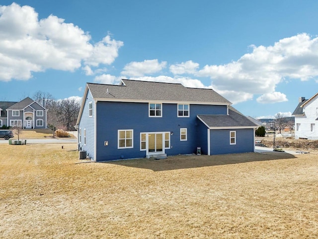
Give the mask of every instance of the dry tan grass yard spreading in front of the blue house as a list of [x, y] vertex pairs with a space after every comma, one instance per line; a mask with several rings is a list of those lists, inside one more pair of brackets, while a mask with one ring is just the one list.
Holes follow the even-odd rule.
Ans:
[[0, 238], [317, 239], [318, 153], [79, 163], [0, 145]]

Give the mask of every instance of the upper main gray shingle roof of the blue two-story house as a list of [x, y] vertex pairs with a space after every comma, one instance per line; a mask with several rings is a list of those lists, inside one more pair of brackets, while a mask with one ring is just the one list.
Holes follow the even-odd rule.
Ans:
[[87, 86], [94, 99], [231, 104], [212, 89], [187, 88], [175, 83], [136, 80], [122, 80], [122, 82], [124, 85], [87, 83]]

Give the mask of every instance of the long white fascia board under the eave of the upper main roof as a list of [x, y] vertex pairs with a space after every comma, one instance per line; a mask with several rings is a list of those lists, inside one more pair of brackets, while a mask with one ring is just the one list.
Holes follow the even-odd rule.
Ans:
[[192, 104], [192, 105], [217, 105], [217, 106], [230, 106], [231, 103], [220, 102], [196, 102], [196, 101], [159, 101], [159, 100], [130, 100], [130, 99], [106, 99], [106, 98], [94, 98], [97, 101], [108, 102], [129, 102], [129, 103], [163, 103], [163, 104]]

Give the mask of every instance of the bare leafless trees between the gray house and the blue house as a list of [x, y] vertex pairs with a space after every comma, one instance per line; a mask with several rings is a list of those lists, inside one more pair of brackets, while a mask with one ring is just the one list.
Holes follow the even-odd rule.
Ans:
[[76, 121], [79, 116], [80, 103], [75, 99], [55, 100], [54, 97], [47, 92], [37, 91], [33, 100], [43, 104], [47, 109], [47, 124], [52, 130], [75, 130]]

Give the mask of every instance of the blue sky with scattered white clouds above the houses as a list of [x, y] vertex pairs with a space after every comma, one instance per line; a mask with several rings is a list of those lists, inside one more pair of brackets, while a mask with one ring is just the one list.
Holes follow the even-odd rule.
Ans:
[[318, 1], [1, 0], [0, 101], [120, 79], [212, 88], [289, 116], [318, 92]]

